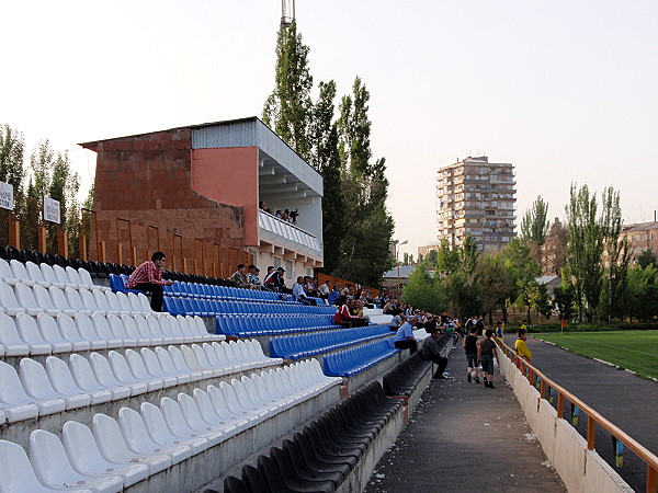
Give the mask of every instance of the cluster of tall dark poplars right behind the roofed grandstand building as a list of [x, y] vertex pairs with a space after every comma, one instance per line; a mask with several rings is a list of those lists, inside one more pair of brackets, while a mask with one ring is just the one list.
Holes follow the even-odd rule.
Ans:
[[279, 31], [275, 84], [262, 119], [322, 175], [324, 272], [378, 286], [394, 264], [394, 221], [386, 160], [371, 149], [370, 92], [356, 76], [337, 111], [336, 82], [321, 81], [314, 102], [308, 54], [295, 23]]

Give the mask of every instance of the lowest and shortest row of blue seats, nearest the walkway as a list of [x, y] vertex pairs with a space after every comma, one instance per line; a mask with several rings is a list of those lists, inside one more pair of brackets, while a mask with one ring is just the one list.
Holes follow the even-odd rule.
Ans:
[[393, 336], [328, 354], [324, 358], [325, 375], [329, 377], [351, 377], [377, 363], [389, 358], [400, 349], [395, 347]]

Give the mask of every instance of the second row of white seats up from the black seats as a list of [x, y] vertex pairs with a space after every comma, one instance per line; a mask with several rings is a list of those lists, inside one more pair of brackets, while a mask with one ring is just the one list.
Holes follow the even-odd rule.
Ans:
[[251, 341], [91, 353], [89, 359], [72, 354], [68, 365], [55, 356], [45, 366], [23, 358], [18, 372], [0, 362], [0, 424], [281, 363]]

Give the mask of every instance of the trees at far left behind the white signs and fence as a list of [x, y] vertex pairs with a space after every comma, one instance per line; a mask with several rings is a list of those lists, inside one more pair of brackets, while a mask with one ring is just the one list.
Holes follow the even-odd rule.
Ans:
[[[26, 157], [22, 131], [9, 124], [0, 126], [0, 182], [13, 186], [14, 219], [21, 223], [21, 245], [36, 249], [38, 226], [43, 220], [43, 197], [59, 202], [60, 227], [68, 236], [69, 254], [79, 254], [78, 238], [81, 228], [81, 207], [91, 208], [93, 186], [81, 204], [78, 197], [80, 176], [71, 169], [67, 151], [56, 152], [49, 141], [42, 140]], [[7, 214], [1, 227], [8, 238]], [[57, 225], [47, 222], [48, 252], [57, 252]]]

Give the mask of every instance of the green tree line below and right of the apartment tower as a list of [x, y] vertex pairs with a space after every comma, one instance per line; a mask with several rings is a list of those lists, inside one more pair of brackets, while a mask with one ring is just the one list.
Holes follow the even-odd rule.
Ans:
[[[510, 307], [566, 321], [653, 321], [658, 317], [658, 261], [650, 250], [633, 255], [622, 236], [620, 194], [600, 197], [587, 185], [571, 185], [566, 222], [547, 219], [540, 196], [523, 215], [520, 236], [492, 254], [480, 254], [473, 238], [451, 249], [444, 240], [421, 259], [402, 293], [402, 302], [457, 317], [500, 312]], [[542, 274], [559, 275], [549, 296]]]

